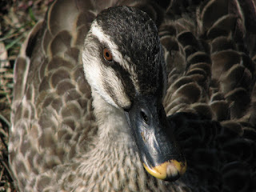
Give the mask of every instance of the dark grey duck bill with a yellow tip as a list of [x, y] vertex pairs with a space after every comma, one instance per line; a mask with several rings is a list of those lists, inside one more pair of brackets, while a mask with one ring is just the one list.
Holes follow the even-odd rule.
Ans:
[[147, 172], [166, 181], [175, 181], [184, 174], [186, 160], [174, 140], [161, 100], [137, 97], [125, 114]]

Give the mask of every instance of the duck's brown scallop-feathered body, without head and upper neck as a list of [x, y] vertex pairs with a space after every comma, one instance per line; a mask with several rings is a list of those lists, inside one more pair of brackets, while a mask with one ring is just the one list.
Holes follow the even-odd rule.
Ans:
[[[256, 189], [255, 3], [166, 4], [55, 1], [34, 26], [14, 70], [9, 151], [19, 190]], [[130, 144], [100, 146], [106, 147], [102, 154], [94, 150], [101, 123], [95, 116], [106, 114], [92, 104], [81, 53], [96, 15], [118, 5], [146, 11], [158, 26], [168, 82], [163, 105], [187, 162], [176, 182], [147, 174]], [[82, 170], [90, 156], [93, 174]]]

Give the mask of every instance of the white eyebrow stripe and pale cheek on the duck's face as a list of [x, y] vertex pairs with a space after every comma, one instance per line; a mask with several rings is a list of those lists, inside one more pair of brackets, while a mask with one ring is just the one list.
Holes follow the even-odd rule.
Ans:
[[[125, 87], [122, 81], [116, 75], [114, 69], [107, 67], [102, 63], [100, 47], [98, 43], [94, 41], [94, 38], [98, 38], [98, 41], [108, 46], [113, 59], [118, 62], [131, 74], [134, 85], [137, 83], [137, 76], [134, 73], [134, 69], [128, 65], [127, 58], [123, 58], [122, 54], [118, 51], [118, 46], [114, 42], [110, 41], [110, 38], [102, 32], [97, 26], [97, 23], [91, 26], [89, 33], [85, 40], [84, 50], [82, 51], [82, 62], [86, 79], [90, 83], [90, 86], [104, 98], [104, 100], [110, 105], [115, 107], [128, 107], [130, 106], [130, 99], [126, 95]], [[129, 58], [128, 58], [129, 59]], [[135, 88], [136, 89], [136, 88]], [[111, 95], [110, 95], [111, 93]]]

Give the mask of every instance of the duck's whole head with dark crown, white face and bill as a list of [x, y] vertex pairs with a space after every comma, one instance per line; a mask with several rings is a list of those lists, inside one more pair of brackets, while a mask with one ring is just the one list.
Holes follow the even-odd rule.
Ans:
[[186, 160], [162, 106], [166, 64], [158, 29], [141, 10], [103, 10], [86, 35], [82, 62], [92, 89], [126, 116], [145, 169], [174, 181]]

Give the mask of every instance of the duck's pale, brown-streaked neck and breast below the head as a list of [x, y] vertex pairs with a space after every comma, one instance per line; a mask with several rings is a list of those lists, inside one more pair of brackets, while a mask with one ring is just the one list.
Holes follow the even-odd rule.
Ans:
[[82, 187], [77, 191], [166, 191], [162, 181], [146, 174], [123, 111], [94, 90], [92, 96], [98, 137], [93, 148], [78, 159], [82, 180], [74, 186]]

